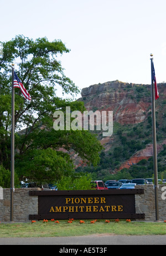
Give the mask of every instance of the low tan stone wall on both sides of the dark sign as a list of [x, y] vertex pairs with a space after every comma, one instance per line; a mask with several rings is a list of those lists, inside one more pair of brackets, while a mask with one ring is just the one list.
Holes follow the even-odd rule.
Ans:
[[[136, 213], [145, 213], [145, 221], [155, 221], [155, 195], [153, 185], [136, 186], [143, 188], [144, 194], [136, 194]], [[37, 188], [16, 188], [14, 192], [13, 221], [29, 222], [29, 214], [38, 214], [38, 196], [29, 196], [29, 191]], [[166, 220], [166, 184], [158, 187], [159, 221]], [[0, 198], [0, 222], [11, 219], [11, 190], [3, 189]]]

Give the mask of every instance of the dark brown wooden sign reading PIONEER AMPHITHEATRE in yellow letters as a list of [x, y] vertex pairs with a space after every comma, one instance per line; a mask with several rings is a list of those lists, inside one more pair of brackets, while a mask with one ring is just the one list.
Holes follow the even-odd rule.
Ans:
[[30, 191], [38, 196], [38, 214], [29, 219], [142, 219], [135, 209], [136, 193], [143, 190]]

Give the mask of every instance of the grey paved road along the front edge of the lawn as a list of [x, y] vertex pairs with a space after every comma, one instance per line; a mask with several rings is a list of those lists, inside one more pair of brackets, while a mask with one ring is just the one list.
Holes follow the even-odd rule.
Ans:
[[0, 238], [0, 245], [166, 245], [166, 235]]

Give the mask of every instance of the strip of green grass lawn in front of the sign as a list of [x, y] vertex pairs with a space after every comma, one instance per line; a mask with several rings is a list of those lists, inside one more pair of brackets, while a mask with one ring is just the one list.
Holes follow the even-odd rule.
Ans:
[[105, 220], [98, 220], [91, 223], [91, 220], [84, 220], [81, 223], [75, 220], [68, 223], [68, 220], [55, 223], [48, 221], [36, 221], [34, 223], [0, 223], [0, 237], [66, 237], [75, 235], [90, 234], [125, 234], [125, 235], [163, 235], [166, 234], [165, 222], [126, 222], [116, 223]]

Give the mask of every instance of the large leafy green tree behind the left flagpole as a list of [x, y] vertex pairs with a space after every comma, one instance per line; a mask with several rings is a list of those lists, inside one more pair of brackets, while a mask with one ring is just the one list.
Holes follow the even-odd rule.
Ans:
[[[83, 160], [97, 165], [101, 145], [89, 131], [55, 131], [53, 113], [84, 111], [84, 104], [56, 95], [58, 86], [72, 97], [79, 93], [75, 84], [65, 76], [59, 54], [69, 53], [61, 42], [47, 38], [29, 39], [18, 35], [3, 42], [0, 58], [0, 163], [10, 168], [11, 161], [11, 63], [28, 90], [32, 100], [23, 98], [15, 88], [15, 171], [40, 181], [53, 181], [73, 170], [66, 151], [74, 151]], [[60, 149], [63, 148], [63, 151]]]

